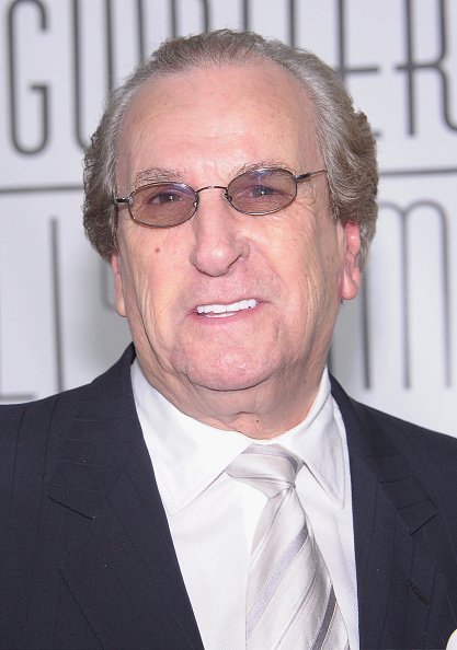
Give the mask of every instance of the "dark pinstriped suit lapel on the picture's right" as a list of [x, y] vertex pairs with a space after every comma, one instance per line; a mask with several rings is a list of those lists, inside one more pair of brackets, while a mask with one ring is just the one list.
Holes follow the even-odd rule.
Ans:
[[336, 383], [347, 432], [361, 648], [438, 648], [446, 585], [429, 536], [435, 504], [393, 438]]

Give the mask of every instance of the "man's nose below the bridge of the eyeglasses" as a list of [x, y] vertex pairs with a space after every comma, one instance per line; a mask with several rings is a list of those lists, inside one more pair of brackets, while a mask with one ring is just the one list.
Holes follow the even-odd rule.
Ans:
[[237, 212], [224, 200], [220, 190], [225, 188], [204, 189], [210, 191], [198, 195], [198, 208], [191, 222], [195, 236], [191, 264], [207, 276], [225, 276], [238, 260], [249, 256], [249, 241]]

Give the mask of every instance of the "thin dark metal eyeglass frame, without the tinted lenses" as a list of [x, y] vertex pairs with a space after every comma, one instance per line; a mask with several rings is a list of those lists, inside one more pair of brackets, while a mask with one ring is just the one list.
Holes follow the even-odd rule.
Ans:
[[248, 172], [243, 172], [242, 174], [239, 174], [239, 176], [236, 176], [235, 178], [232, 178], [232, 181], [230, 181], [230, 183], [227, 186], [224, 185], [206, 185], [205, 187], [201, 187], [199, 189], [194, 189], [193, 187], [191, 187], [191, 185], [187, 185], [186, 183], [178, 183], [176, 185], [181, 185], [181, 186], [185, 186], [188, 187], [188, 189], [192, 189], [192, 191], [195, 194], [195, 200], [192, 204], [194, 209], [193, 211], [190, 213], [188, 217], [186, 217], [183, 221], [180, 221], [179, 223], [172, 223], [170, 225], [156, 225], [153, 223], [146, 223], [145, 221], [140, 221], [139, 219], [136, 219], [134, 217], [134, 213], [132, 211], [132, 205], [133, 205], [133, 197], [135, 196], [136, 193], [141, 191], [142, 189], [147, 188], [147, 187], [153, 187], [155, 185], [163, 185], [167, 183], [173, 184], [173, 182], [171, 181], [158, 181], [156, 183], [148, 183], [147, 185], [142, 185], [141, 187], [138, 187], [137, 189], [134, 189], [134, 191], [132, 191], [128, 196], [124, 196], [124, 197], [118, 197], [115, 196], [113, 197], [113, 200], [115, 204], [124, 204], [127, 205], [128, 207], [128, 213], [130, 216], [130, 219], [133, 221], [135, 221], [135, 223], [139, 223], [141, 225], [146, 225], [148, 228], [175, 228], [176, 225], [181, 225], [181, 223], [185, 223], [186, 221], [188, 221], [190, 219], [192, 219], [192, 217], [195, 214], [195, 212], [198, 209], [198, 204], [199, 204], [199, 193], [204, 191], [205, 189], [224, 189], [225, 191], [222, 193], [222, 197], [224, 199], [228, 202], [228, 205], [233, 208], [233, 210], [237, 210], [237, 212], [240, 212], [241, 214], [249, 214], [251, 217], [263, 217], [265, 214], [273, 214], [274, 212], [279, 212], [279, 210], [284, 210], [284, 208], [287, 208], [288, 206], [290, 206], [295, 199], [297, 198], [297, 193], [298, 193], [298, 183], [301, 183], [302, 181], [308, 181], [309, 178], [311, 178], [312, 176], [316, 176], [317, 174], [324, 174], [327, 173], [327, 170], [317, 170], [316, 172], [306, 172], [305, 174], [293, 174], [292, 172], [289, 172], [289, 170], [282, 170], [281, 167], [260, 167], [259, 170], [252, 170], [252, 173], [254, 172], [276, 172], [276, 171], [283, 171], [283, 172], [288, 172], [290, 174], [290, 178], [293, 178], [295, 181], [295, 195], [292, 198], [292, 200], [286, 204], [285, 206], [281, 206], [281, 208], [275, 208], [274, 210], [267, 210], [262, 211], [262, 212], [247, 212], [245, 210], [240, 210], [239, 208], [235, 207], [233, 204], [230, 200], [230, 196], [228, 195], [228, 188], [230, 187], [230, 185], [233, 183], [233, 181], [236, 181], [239, 176], [242, 176], [243, 174], [247, 174]]

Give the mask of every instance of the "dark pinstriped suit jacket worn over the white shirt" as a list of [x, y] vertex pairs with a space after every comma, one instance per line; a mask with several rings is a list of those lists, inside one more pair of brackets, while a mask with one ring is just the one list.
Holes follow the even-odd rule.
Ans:
[[[130, 347], [92, 384], [0, 409], [0, 647], [202, 649], [136, 416]], [[362, 648], [457, 627], [457, 440], [352, 402]], [[336, 649], [335, 649], [336, 650]]]

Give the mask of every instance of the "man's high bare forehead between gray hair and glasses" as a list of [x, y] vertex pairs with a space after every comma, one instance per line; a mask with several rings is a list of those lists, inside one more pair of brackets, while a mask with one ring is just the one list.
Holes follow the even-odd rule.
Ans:
[[321, 160], [306, 89], [270, 61], [192, 68], [148, 81], [124, 117], [118, 152], [126, 183], [149, 167], [227, 175], [255, 162], [309, 171]]

